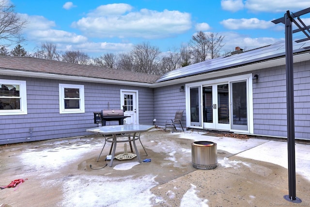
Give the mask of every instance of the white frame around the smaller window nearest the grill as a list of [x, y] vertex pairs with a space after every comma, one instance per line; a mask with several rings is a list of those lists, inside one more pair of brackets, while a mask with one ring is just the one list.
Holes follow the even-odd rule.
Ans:
[[[64, 108], [64, 89], [79, 89], [79, 109]], [[85, 113], [84, 85], [59, 83], [59, 113]]]

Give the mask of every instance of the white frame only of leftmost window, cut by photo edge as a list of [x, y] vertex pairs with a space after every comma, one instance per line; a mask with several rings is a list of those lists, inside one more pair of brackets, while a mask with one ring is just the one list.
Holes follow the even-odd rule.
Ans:
[[27, 89], [26, 80], [0, 80], [7, 85], [19, 85], [20, 109], [0, 110], [0, 115], [24, 115], [27, 114]]

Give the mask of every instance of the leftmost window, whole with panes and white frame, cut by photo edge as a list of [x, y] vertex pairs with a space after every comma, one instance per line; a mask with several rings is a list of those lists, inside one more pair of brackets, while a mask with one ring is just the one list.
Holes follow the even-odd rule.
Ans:
[[0, 115], [27, 114], [25, 80], [0, 79]]

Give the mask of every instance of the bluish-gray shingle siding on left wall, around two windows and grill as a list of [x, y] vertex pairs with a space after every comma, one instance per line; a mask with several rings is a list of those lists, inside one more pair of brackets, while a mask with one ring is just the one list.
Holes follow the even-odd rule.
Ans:
[[[1, 78], [26, 80], [28, 114], [0, 116], [0, 144], [87, 135], [87, 128], [97, 127], [93, 124], [93, 112], [108, 109], [108, 105], [110, 109], [120, 109], [120, 89], [139, 90], [139, 102], [151, 103], [151, 109], [140, 107], [139, 121], [141, 124], [153, 123], [153, 89], [9, 76]], [[85, 113], [59, 112], [59, 83], [84, 85]], [[109, 124], [118, 123], [107, 122]], [[29, 128], [33, 128], [32, 133]]]

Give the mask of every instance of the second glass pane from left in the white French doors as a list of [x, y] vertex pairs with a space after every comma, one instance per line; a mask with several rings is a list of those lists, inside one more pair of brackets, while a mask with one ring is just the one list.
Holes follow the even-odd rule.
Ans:
[[206, 86], [202, 88], [202, 104], [203, 104], [203, 122], [213, 123], [213, 98], [212, 98], [212, 86]]

